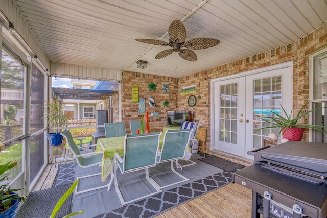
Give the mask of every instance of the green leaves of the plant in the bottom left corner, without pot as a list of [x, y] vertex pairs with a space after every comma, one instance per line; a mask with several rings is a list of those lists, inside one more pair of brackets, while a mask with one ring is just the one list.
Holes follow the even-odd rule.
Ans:
[[[17, 165], [17, 162], [8, 162], [7, 164], [0, 165], [0, 176], [2, 176], [6, 171], [9, 169], [15, 167]], [[3, 182], [4, 180], [8, 180], [7, 176], [2, 176], [0, 178], [0, 182]], [[12, 200], [18, 200], [21, 199], [25, 201], [25, 197], [19, 196], [15, 191], [18, 191], [21, 189], [12, 189], [9, 185], [4, 184], [0, 186], [0, 213], [5, 212], [8, 210], [11, 206]]]

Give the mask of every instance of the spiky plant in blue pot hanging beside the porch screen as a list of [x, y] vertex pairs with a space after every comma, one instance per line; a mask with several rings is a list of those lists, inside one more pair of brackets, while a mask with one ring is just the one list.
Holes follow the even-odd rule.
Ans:
[[52, 101], [46, 101], [44, 102], [47, 105], [47, 108], [45, 110], [44, 119], [47, 119], [46, 125], [50, 127], [52, 125], [55, 127], [55, 132], [48, 133], [46, 136], [48, 136], [49, 144], [50, 146], [60, 146], [62, 144], [63, 136], [60, 135], [60, 127], [63, 127], [66, 125], [67, 117], [63, 113], [64, 105], [60, 101], [60, 99], [56, 96], [52, 98]]

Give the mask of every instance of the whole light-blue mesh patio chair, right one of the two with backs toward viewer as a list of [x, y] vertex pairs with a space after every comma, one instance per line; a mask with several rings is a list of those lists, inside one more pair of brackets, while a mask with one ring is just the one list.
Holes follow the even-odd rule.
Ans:
[[171, 171], [180, 176], [183, 180], [166, 186], [161, 186], [160, 189], [190, 180], [175, 171], [174, 162], [184, 158], [186, 147], [189, 145], [190, 137], [193, 132], [193, 129], [167, 130], [165, 132], [164, 142], [162, 143], [161, 151], [158, 154], [157, 163], [170, 161]]

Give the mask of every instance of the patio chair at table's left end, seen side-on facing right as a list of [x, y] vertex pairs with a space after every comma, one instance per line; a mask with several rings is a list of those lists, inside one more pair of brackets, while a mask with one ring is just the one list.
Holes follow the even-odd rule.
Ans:
[[[86, 154], [81, 154], [79, 151], [79, 147], [76, 145], [76, 143], [73, 140], [71, 132], [69, 132], [68, 130], [64, 130], [60, 134], [66, 139], [69, 150], [72, 151], [73, 156], [76, 159], [76, 162], [80, 167], [87, 168], [87, 167], [91, 167], [91, 166], [95, 166], [95, 165], [101, 165], [103, 152], [90, 152], [90, 153], [86, 153]], [[97, 144], [92, 144], [91, 146], [92, 147], [97, 146]], [[90, 145], [88, 144], [85, 147], [90, 147]], [[77, 177], [77, 179], [83, 179], [83, 178], [99, 176], [99, 175], [101, 176], [101, 173]], [[101, 177], [99, 177], [99, 178], [101, 178]], [[111, 177], [111, 180], [112, 180], [112, 177]], [[75, 188], [75, 195], [78, 195], [80, 193], [85, 193], [88, 191], [105, 188], [105, 187], [108, 187], [108, 185], [98, 186], [95, 188], [90, 188], [90, 189], [86, 189], [86, 190], [82, 190], [82, 191], [77, 191], [77, 187], [78, 187], [78, 185]]]

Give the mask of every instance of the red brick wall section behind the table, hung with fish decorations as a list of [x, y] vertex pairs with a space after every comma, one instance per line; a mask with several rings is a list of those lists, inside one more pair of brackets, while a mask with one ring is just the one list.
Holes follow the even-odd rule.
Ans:
[[[155, 83], [156, 90], [149, 91], [148, 83]], [[162, 86], [167, 85], [169, 91], [166, 93]], [[144, 113], [139, 113], [139, 103], [132, 102], [132, 86], [138, 86], [138, 97], [145, 98], [146, 111], [159, 113], [158, 117], [149, 115], [149, 126], [151, 132], [162, 131], [167, 125], [167, 110], [177, 109], [177, 79], [172, 77], [162, 77], [139, 72], [123, 72], [122, 81], [122, 118], [125, 122], [127, 133], [130, 133], [129, 120], [141, 120]], [[154, 98], [156, 107], [149, 104], [149, 97]], [[164, 102], [169, 101], [169, 105], [164, 107]]]

